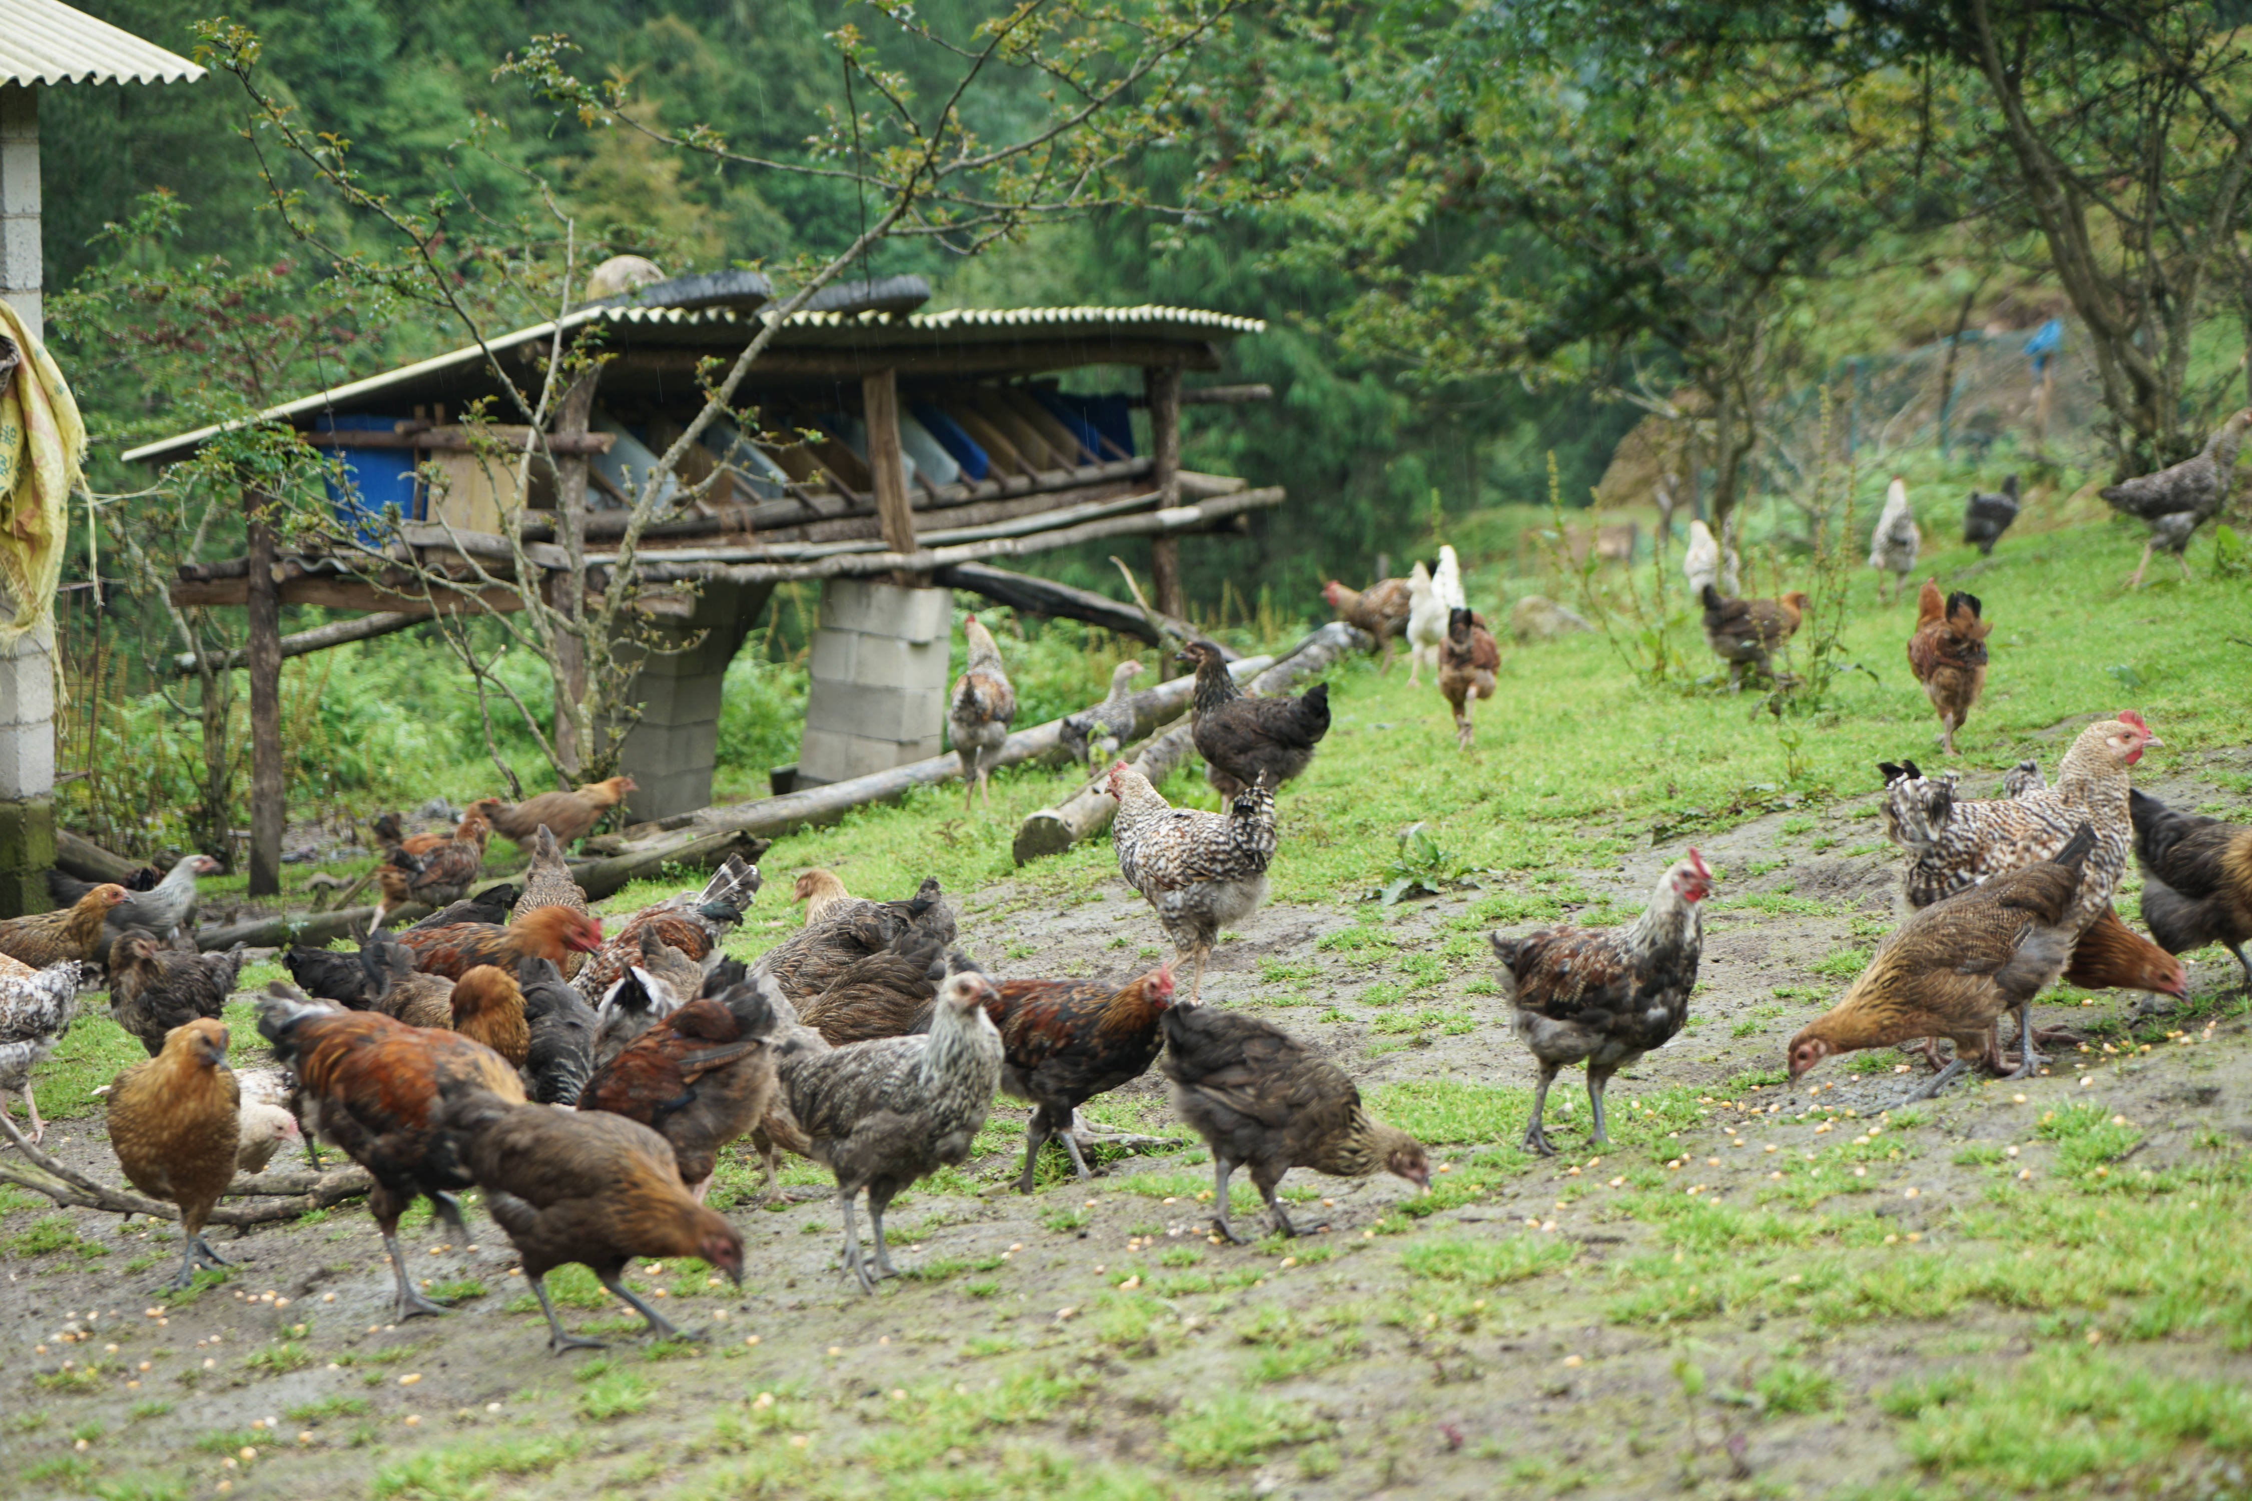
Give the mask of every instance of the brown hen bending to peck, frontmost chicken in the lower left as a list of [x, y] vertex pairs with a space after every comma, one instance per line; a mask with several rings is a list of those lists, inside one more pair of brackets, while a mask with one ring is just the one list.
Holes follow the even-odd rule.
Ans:
[[547, 1348], [599, 1350], [565, 1334], [547, 1298], [547, 1274], [577, 1262], [649, 1321], [658, 1339], [680, 1334], [619, 1274], [637, 1256], [696, 1256], [743, 1285], [743, 1233], [689, 1197], [664, 1136], [604, 1112], [511, 1103], [484, 1089], [448, 1089], [444, 1123], [466, 1141], [466, 1166], [493, 1220], [522, 1258]]

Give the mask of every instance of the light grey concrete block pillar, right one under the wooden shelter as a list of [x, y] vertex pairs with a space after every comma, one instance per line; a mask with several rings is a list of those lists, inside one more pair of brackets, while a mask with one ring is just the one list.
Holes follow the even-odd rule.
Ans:
[[887, 772], [946, 749], [953, 592], [869, 578], [822, 585], [797, 785]]

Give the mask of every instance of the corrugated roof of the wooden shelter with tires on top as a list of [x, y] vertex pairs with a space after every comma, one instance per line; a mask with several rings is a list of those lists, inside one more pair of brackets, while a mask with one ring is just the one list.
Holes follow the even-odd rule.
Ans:
[[[0, 0], [0, 7], [11, 2], [16, 0]], [[770, 322], [772, 317], [775, 311], [770, 308], [761, 308], [757, 313], [734, 313], [730, 308], [577, 308], [563, 315], [561, 329], [570, 333], [572, 329], [583, 329], [597, 322], [626, 324], [655, 333], [662, 342], [673, 344], [694, 342], [698, 333], [716, 331], [727, 324], [748, 329], [752, 322]], [[484, 365], [486, 349], [493, 353], [507, 353], [522, 344], [538, 344], [554, 338], [556, 326], [556, 322], [545, 322], [531, 329], [518, 329], [486, 340], [484, 347], [468, 344], [466, 349], [453, 349], [428, 360], [417, 360], [414, 365], [401, 365], [399, 369], [369, 376], [367, 380], [351, 380], [347, 385], [329, 387], [327, 392], [313, 392], [311, 396], [300, 396], [297, 401], [286, 401], [277, 407], [259, 412], [259, 421], [295, 421], [318, 412], [351, 407], [369, 396], [381, 396], [383, 392], [414, 387], [437, 376]], [[1207, 313], [1205, 308], [1169, 306], [950, 308], [946, 313], [912, 313], [908, 317], [892, 313], [797, 313], [784, 322], [770, 349], [835, 349], [890, 342], [903, 347], [946, 349], [968, 344], [1009, 344], [1027, 335], [1036, 335], [1040, 340], [1212, 340], [1234, 338], [1239, 333], [1266, 333], [1266, 322], [1257, 317], [1236, 317], [1232, 313]], [[185, 457], [189, 450], [209, 441], [218, 432], [225, 432], [230, 425], [234, 423], [214, 423], [209, 428], [196, 428], [194, 432], [180, 432], [176, 437], [133, 448], [124, 457], [128, 464]]]

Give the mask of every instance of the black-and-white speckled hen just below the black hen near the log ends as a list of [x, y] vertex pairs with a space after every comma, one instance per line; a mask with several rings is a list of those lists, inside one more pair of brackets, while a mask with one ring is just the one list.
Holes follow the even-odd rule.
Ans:
[[1239, 792], [1227, 812], [1173, 808], [1124, 761], [1110, 767], [1110, 846], [1119, 875], [1158, 911], [1173, 947], [1196, 959], [1194, 1001], [1205, 986], [1205, 961], [1221, 929], [1241, 923], [1266, 900], [1266, 869], [1275, 860], [1275, 788]]

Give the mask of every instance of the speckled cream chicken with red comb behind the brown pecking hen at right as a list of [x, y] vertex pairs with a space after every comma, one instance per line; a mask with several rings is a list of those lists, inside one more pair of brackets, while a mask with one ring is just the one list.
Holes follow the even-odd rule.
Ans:
[[2065, 927], [2072, 938], [2110, 905], [2126, 871], [2135, 826], [2128, 817], [2128, 767], [2148, 745], [2164, 745], [2133, 709], [2079, 734], [2056, 767], [2056, 785], [1998, 801], [1957, 801], [1955, 774], [1928, 779], [1916, 763], [1880, 763], [1885, 833], [1910, 853], [1903, 893], [1930, 907], [1964, 887], [2049, 860], [2081, 824], [2092, 824], [2094, 855], [2076, 882]]

